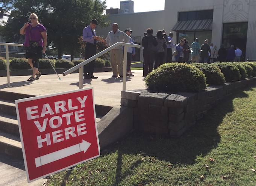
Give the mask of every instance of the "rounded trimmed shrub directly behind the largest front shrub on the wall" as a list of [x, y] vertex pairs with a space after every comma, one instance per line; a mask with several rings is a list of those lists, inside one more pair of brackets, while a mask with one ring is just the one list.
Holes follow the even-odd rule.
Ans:
[[207, 84], [223, 85], [225, 83], [225, 77], [223, 73], [215, 64], [193, 63], [191, 65], [203, 71]]

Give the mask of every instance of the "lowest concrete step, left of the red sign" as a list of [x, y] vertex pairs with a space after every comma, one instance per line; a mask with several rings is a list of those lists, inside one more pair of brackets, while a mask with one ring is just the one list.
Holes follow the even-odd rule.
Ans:
[[0, 152], [23, 159], [20, 137], [0, 131]]

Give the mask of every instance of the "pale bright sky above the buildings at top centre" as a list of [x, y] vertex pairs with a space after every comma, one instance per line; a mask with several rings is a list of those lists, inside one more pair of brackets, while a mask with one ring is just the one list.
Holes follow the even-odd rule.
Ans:
[[[122, 0], [124, 1], [124, 0]], [[120, 8], [120, 0], [106, 0], [107, 9], [109, 8]], [[164, 10], [165, 0], [133, 0], [134, 12], [150, 12], [150, 11], [159, 11]]]

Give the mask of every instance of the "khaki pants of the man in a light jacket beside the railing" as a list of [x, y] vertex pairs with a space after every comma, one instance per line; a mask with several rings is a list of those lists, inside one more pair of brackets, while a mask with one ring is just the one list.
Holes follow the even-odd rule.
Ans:
[[123, 49], [113, 49], [110, 51], [110, 62], [113, 70], [113, 75], [123, 76]]

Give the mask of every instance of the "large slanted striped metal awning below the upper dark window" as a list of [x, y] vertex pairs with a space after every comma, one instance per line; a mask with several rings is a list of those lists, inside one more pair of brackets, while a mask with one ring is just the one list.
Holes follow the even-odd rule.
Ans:
[[177, 21], [171, 30], [212, 30], [212, 20]]

